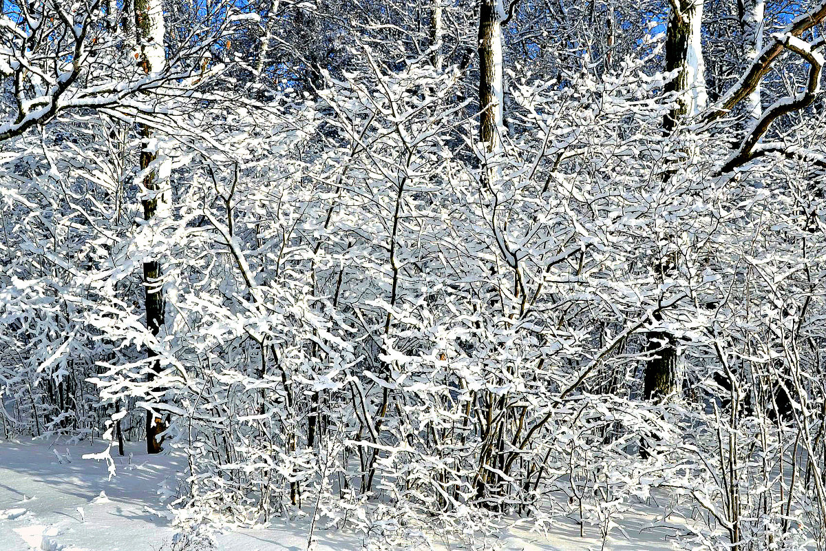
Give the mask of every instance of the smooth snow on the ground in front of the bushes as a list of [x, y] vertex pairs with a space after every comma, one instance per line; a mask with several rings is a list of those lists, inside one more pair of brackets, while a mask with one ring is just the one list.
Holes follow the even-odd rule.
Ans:
[[[58, 444], [42, 441], [0, 442], [0, 551], [159, 551], [169, 549], [175, 530], [161, 501], [177, 487], [183, 458], [147, 455], [137, 445], [127, 450], [131, 458], [116, 458], [117, 476], [108, 480], [102, 462], [83, 459], [98, 452], [97, 445]], [[542, 536], [513, 529], [501, 534], [502, 551], [635, 551], [671, 549], [666, 536], [673, 530], [650, 530], [651, 512], [624, 520], [628, 539], [621, 534], [605, 548], [598, 530], [579, 537], [574, 523], [558, 524]], [[364, 549], [363, 537], [338, 530], [316, 531], [318, 551]], [[218, 536], [220, 551], [304, 551], [307, 523], [276, 520], [266, 529], [241, 530]], [[466, 549], [461, 542], [434, 548]], [[481, 549], [481, 548], [480, 548]]]

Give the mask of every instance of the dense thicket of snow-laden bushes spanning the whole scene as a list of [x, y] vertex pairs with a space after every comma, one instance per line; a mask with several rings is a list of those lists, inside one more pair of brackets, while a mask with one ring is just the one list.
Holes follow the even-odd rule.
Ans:
[[[166, 98], [151, 222], [124, 200], [146, 192], [131, 130], [12, 142], [8, 423], [97, 437], [111, 417], [106, 439], [137, 439], [150, 411], [188, 458], [172, 506], [194, 525], [306, 516], [390, 549], [512, 515], [609, 534], [664, 500], [695, 549], [822, 544], [817, 164], [719, 174], [726, 129], [663, 135], [673, 98], [631, 60], [513, 86], [489, 154], [458, 69], [358, 55], [312, 100]], [[645, 400], [669, 340], [683, 388]]]

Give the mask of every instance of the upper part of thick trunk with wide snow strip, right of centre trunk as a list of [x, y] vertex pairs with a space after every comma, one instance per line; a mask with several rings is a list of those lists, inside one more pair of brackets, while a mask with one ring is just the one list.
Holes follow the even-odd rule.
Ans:
[[666, 32], [666, 71], [676, 71], [676, 76], [666, 83], [664, 90], [675, 92], [678, 97], [676, 107], [665, 117], [667, 132], [672, 131], [683, 116], [700, 112], [708, 100], [700, 45], [702, 19], [702, 0], [672, 2]]

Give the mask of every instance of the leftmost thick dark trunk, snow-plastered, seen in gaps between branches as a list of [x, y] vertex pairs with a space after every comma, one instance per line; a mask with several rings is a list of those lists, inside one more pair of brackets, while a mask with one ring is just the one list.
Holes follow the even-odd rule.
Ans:
[[[164, 51], [164, 9], [160, 0], [135, 0], [135, 31], [140, 48], [140, 67], [146, 74], [163, 70], [166, 64], [166, 54]], [[138, 134], [141, 138], [140, 169], [145, 171], [143, 187], [146, 189], [146, 195], [141, 203], [144, 207], [144, 220], [150, 222], [159, 210], [163, 210], [162, 186], [164, 182], [159, 178], [161, 174], [156, 163], [158, 160], [156, 146], [150, 145], [153, 137], [150, 126], [139, 123]], [[144, 263], [146, 327], [155, 336], [159, 335], [165, 321], [162, 277], [163, 272], [158, 260]], [[150, 351], [150, 358], [154, 358], [155, 355], [153, 351]], [[155, 374], [160, 372], [159, 360], [153, 360], [152, 370]], [[154, 375], [151, 378], [154, 378]], [[164, 421], [147, 411], [146, 450], [150, 454], [157, 454], [161, 451], [159, 435], [164, 430], [166, 430]]]

